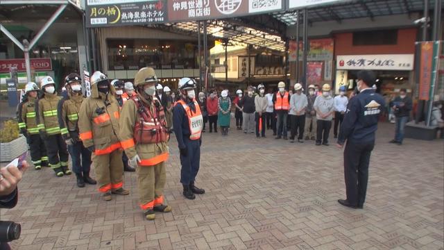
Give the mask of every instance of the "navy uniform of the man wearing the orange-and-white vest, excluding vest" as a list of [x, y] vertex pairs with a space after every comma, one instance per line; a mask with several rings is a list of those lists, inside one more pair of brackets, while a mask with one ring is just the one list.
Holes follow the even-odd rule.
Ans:
[[[194, 106], [189, 102], [188, 105]], [[193, 110], [194, 108], [191, 108]], [[180, 183], [189, 185], [194, 183], [200, 166], [200, 140], [189, 140], [188, 117], [185, 115], [185, 109], [182, 105], [177, 104], [173, 109], [173, 128], [178, 140], [179, 149], [185, 149], [186, 153], [180, 153]]]

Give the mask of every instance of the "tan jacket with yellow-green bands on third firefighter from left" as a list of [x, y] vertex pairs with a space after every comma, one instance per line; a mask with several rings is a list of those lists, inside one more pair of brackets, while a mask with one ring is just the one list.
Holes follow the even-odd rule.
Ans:
[[58, 123], [60, 124], [60, 133], [63, 140], [72, 139], [74, 142], [80, 141], [78, 133], [78, 113], [82, 105], [82, 93], [68, 92], [68, 96], [61, 99], [58, 103]]

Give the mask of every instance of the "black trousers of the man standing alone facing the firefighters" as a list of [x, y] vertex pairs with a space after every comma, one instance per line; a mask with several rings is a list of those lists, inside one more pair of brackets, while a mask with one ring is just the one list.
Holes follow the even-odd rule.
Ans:
[[375, 142], [348, 141], [344, 150], [344, 177], [347, 200], [353, 206], [362, 206], [366, 200], [368, 164]]

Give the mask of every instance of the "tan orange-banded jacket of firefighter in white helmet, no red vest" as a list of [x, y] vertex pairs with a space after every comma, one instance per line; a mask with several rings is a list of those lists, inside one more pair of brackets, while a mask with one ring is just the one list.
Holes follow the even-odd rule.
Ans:
[[119, 142], [119, 103], [114, 98], [115, 90], [109, 85], [108, 94], [99, 92], [97, 84], [91, 85], [91, 96], [80, 106], [78, 129], [80, 140], [86, 148], [94, 146], [99, 156], [121, 149]]

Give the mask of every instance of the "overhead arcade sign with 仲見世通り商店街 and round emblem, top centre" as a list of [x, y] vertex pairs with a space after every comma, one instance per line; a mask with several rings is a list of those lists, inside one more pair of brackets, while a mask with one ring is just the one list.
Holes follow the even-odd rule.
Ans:
[[282, 0], [168, 0], [170, 22], [254, 15], [283, 10]]

